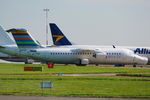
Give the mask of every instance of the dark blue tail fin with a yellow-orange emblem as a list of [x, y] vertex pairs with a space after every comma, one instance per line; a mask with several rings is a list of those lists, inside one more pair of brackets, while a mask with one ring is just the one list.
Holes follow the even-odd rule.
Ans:
[[62, 33], [56, 24], [50, 23], [49, 25], [54, 45], [72, 45], [72, 43], [66, 38], [66, 36]]

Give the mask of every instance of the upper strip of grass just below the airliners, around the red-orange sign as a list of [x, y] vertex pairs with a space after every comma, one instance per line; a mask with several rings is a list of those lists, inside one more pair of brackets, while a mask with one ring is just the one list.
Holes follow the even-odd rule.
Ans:
[[[36, 66], [43, 67], [43, 71], [40, 72], [24, 72], [23, 68], [25, 66]], [[68, 74], [79, 74], [79, 73], [150, 73], [150, 69], [142, 69], [142, 68], [116, 68], [116, 67], [95, 67], [95, 66], [63, 66], [56, 65], [53, 69], [48, 69], [46, 65], [39, 64], [0, 64], [0, 74], [46, 74], [46, 73], [68, 73]]]

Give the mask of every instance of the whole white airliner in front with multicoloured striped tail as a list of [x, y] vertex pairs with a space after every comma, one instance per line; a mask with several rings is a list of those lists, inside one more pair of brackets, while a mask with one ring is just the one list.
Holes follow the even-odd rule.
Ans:
[[[124, 48], [42, 47], [26, 29], [9, 29], [18, 48], [7, 43], [8, 34], [0, 28], [0, 51], [9, 55], [58, 64], [147, 64], [148, 59]], [[60, 38], [59, 38], [60, 39]], [[58, 40], [59, 40], [58, 39]], [[3, 42], [4, 44], [1, 44]]]

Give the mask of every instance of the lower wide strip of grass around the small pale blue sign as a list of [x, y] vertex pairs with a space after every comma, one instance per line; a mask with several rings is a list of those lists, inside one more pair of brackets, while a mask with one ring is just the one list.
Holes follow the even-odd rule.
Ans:
[[[2, 95], [44, 95], [80, 97], [150, 98], [150, 79], [124, 77], [0, 77]], [[40, 82], [51, 81], [52, 89], [40, 88]]]

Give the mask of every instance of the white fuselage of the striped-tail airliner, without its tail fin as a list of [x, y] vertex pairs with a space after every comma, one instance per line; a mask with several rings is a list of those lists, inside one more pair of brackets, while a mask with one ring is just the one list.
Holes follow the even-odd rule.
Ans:
[[1, 48], [1, 52], [59, 64], [146, 64], [148, 59], [122, 48], [80, 49], [66, 47], [51, 48]]

